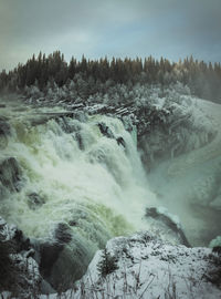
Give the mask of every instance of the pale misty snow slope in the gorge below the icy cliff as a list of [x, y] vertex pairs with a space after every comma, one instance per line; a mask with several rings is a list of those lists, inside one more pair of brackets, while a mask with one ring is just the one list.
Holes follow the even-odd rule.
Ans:
[[199, 134], [204, 127], [217, 133], [203, 146], [159, 162], [148, 181], [158, 206], [179, 216], [190, 244], [208, 246], [221, 230], [221, 105], [192, 99], [190, 106]]

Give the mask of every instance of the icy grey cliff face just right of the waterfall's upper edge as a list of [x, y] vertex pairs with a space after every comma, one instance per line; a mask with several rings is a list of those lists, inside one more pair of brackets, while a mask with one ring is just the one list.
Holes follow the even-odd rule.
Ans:
[[191, 96], [183, 96], [178, 103], [169, 99], [160, 109], [146, 105], [138, 109], [136, 115], [139, 120], [138, 147], [148, 165], [158, 158], [173, 158], [200, 148], [218, 133], [210, 117], [193, 105]]

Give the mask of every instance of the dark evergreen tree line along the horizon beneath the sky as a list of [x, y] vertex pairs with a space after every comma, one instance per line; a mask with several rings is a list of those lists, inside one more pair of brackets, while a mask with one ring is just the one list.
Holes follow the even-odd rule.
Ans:
[[3, 70], [0, 73], [0, 91], [23, 92], [31, 85], [45, 91], [49, 84], [62, 87], [80, 80], [87, 83], [85, 96], [101, 92], [99, 87], [107, 82], [109, 85], [119, 83], [129, 86], [137, 83], [160, 84], [164, 89], [178, 81], [189, 86], [193, 95], [221, 102], [221, 64], [206, 63], [192, 56], [176, 63], [152, 56], [143, 61], [139, 58], [87, 60], [83, 55], [81, 61], [72, 58], [67, 63], [60, 51], [48, 56], [40, 52], [12, 71]]

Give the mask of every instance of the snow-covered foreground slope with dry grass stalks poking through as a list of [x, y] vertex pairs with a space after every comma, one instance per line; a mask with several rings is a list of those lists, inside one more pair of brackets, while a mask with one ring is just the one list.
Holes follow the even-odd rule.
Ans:
[[211, 249], [171, 246], [140, 233], [109, 240], [107, 250], [117, 258], [118, 269], [101, 277], [97, 251], [77, 288], [62, 298], [221, 298], [221, 290], [210, 282], [217, 269]]

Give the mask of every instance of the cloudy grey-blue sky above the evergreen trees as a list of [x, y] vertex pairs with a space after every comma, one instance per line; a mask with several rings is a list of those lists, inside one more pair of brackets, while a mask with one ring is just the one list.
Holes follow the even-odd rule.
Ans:
[[221, 0], [0, 0], [0, 70], [56, 50], [221, 62]]

